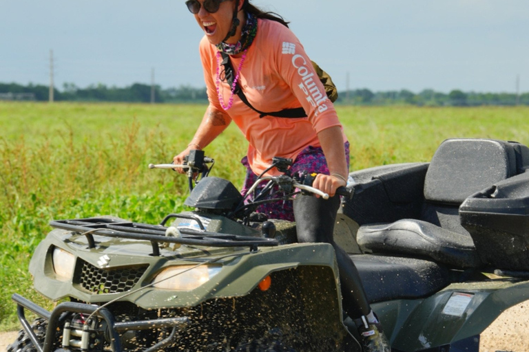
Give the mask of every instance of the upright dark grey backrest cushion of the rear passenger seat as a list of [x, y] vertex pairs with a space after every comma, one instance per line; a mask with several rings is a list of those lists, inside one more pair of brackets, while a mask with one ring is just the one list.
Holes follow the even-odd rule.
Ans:
[[512, 144], [500, 140], [445, 140], [433, 155], [424, 181], [427, 201], [457, 204], [517, 173]]

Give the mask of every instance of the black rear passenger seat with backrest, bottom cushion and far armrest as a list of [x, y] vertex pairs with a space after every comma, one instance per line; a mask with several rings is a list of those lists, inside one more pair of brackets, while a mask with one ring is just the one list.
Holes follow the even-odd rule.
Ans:
[[[386, 203], [395, 204], [377, 209], [379, 213], [386, 212], [382, 219], [371, 216], [366, 221], [358, 217], [355, 209], [362, 208], [362, 203], [346, 203], [343, 211], [359, 223], [357, 243], [364, 252], [423, 256], [451, 267], [480, 267], [482, 261], [473, 238], [461, 225], [459, 207], [471, 195], [523, 173], [528, 166], [528, 156], [526, 146], [512, 142], [446, 140], [435, 152], [429, 166], [411, 164], [397, 171], [389, 169], [364, 184], [353, 186], [355, 197], [357, 190], [362, 193], [378, 187], [379, 192], [386, 195]], [[399, 175], [392, 177], [391, 173]], [[354, 179], [355, 173], [351, 176]], [[408, 181], [395, 181], [393, 185], [387, 181], [395, 177]], [[401, 193], [410, 192], [413, 199], [398, 199], [392, 195], [395, 191], [390, 190], [390, 186], [400, 187]], [[417, 195], [417, 188], [423, 191], [422, 195]], [[362, 197], [356, 200], [355, 197], [351, 201], [362, 201]], [[376, 206], [372, 207], [376, 209]], [[388, 218], [391, 220], [387, 221]]]

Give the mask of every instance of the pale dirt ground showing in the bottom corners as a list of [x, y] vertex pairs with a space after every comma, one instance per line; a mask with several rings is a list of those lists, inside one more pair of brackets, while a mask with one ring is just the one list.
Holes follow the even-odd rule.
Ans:
[[[0, 352], [17, 338], [17, 331], [0, 333]], [[529, 351], [529, 301], [506, 310], [481, 334], [480, 352]]]

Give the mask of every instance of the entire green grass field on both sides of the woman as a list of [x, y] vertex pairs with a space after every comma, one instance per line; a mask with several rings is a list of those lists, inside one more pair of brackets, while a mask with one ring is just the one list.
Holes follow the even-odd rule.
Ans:
[[[0, 102], [0, 330], [16, 326], [10, 296], [45, 307], [31, 288], [30, 256], [52, 219], [114, 214], [158, 223], [181, 210], [185, 177], [147, 164], [170, 162], [205, 106]], [[529, 144], [529, 108], [338, 107], [351, 168], [428, 161], [448, 137]], [[247, 142], [235, 126], [206, 148], [211, 175], [240, 186]]]

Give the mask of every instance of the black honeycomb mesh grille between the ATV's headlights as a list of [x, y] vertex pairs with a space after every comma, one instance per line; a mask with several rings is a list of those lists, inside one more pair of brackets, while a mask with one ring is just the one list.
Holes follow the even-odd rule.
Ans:
[[118, 269], [101, 269], [81, 260], [79, 284], [94, 294], [127, 292], [140, 280], [148, 265], [135, 265]]

